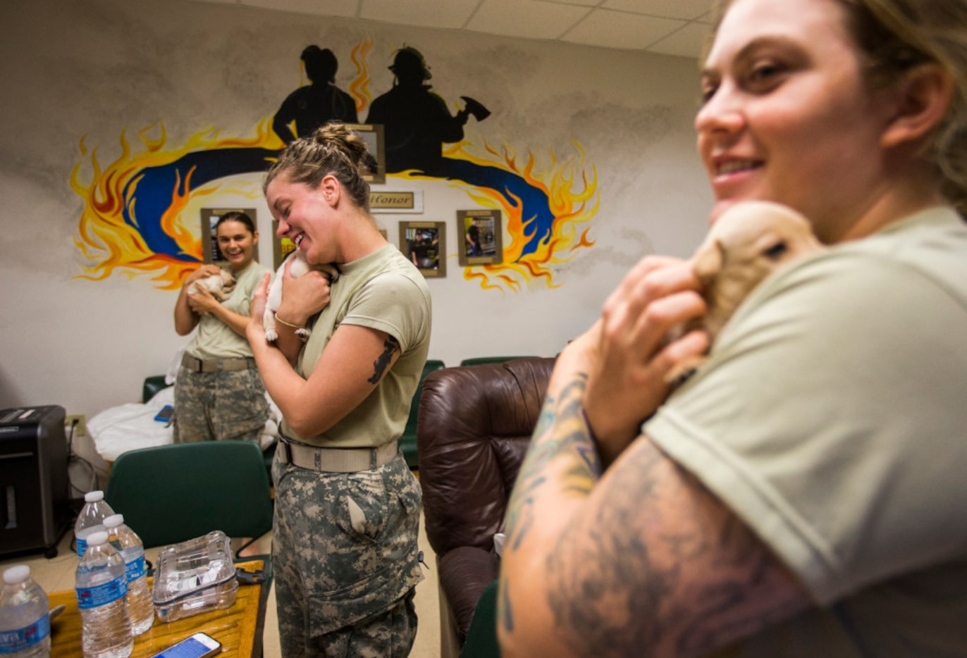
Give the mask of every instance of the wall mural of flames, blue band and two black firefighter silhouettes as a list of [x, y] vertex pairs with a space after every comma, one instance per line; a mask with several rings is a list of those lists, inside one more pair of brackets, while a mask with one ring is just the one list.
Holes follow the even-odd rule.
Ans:
[[470, 118], [488, 119], [484, 102], [461, 97], [462, 108], [451, 114], [427, 83], [423, 55], [411, 46], [395, 53], [393, 88], [372, 99], [366, 63], [371, 46], [366, 38], [352, 49], [356, 73], [348, 93], [334, 84], [336, 55], [308, 46], [302, 61], [310, 84], [260, 120], [250, 137], [204, 129], [185, 144], [169, 145], [158, 124], [138, 131], [135, 146], [122, 131], [121, 155], [106, 166], [82, 138], [71, 174], [71, 186], [84, 201], [74, 239], [85, 261], [81, 276], [151, 275], [161, 289], [179, 288], [204, 261], [198, 216], [182, 213], [191, 199], [238, 192], [226, 179], [263, 172], [296, 136], [330, 119], [358, 123], [366, 112], [365, 123], [384, 126], [388, 176], [451, 182], [478, 206], [507, 217], [502, 260], [466, 267], [464, 278], [484, 289], [515, 292], [536, 282], [559, 285], [552, 266], [594, 244], [584, 224], [598, 211], [597, 173], [593, 165], [588, 173], [580, 145], [572, 142], [576, 155], [563, 160], [549, 154], [547, 164], [532, 151], [518, 160], [509, 144], [475, 147], [464, 139], [464, 126]]

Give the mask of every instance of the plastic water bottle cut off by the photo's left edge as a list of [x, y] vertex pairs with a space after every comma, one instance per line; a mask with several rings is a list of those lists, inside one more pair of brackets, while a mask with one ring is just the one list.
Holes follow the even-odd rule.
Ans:
[[3, 572], [0, 589], [0, 655], [5, 658], [50, 656], [50, 604], [44, 589], [17, 564]]

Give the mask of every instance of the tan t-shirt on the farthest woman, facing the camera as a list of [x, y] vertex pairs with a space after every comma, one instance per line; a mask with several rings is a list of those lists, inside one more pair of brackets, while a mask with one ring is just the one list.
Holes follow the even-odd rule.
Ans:
[[[235, 274], [235, 290], [231, 297], [222, 302], [230, 311], [241, 315], [249, 315], [251, 296], [262, 282], [265, 272], [264, 266], [252, 261], [242, 272]], [[221, 322], [211, 313], [202, 313], [185, 352], [192, 357], [201, 359], [212, 358], [244, 358], [251, 357], [249, 340], [245, 336], [235, 333], [228, 325]]]

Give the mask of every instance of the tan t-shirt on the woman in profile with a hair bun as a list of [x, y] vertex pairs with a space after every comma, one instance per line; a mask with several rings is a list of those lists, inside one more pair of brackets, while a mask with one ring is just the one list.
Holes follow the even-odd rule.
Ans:
[[[339, 269], [342, 273], [333, 285], [332, 299], [311, 326], [312, 335], [296, 370], [308, 379], [342, 324], [386, 331], [399, 342], [401, 355], [359, 407], [329, 431], [304, 443], [378, 447], [395, 442], [406, 427], [429, 351], [429, 288], [423, 274], [392, 245]], [[282, 431], [294, 436], [284, 419]]]

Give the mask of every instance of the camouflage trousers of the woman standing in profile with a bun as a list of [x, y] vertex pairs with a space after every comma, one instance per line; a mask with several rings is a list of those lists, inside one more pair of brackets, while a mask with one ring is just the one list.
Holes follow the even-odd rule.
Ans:
[[417, 633], [422, 492], [401, 453], [371, 471], [278, 459], [272, 560], [284, 658], [403, 657]]

